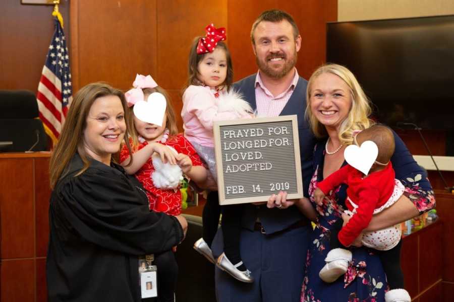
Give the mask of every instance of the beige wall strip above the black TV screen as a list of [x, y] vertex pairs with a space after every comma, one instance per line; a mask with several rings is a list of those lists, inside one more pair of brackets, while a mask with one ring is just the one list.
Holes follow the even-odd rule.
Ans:
[[454, 15], [453, 0], [338, 0], [337, 21]]

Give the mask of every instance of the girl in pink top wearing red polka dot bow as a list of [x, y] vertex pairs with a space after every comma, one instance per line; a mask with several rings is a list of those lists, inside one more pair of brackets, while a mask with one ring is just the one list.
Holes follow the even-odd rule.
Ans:
[[[189, 54], [189, 78], [183, 94], [181, 116], [185, 137], [206, 162], [213, 179], [216, 180], [213, 122], [251, 118], [252, 109], [240, 94], [231, 89], [232, 59], [229, 49], [222, 42], [226, 39], [225, 28], [216, 29], [210, 24], [205, 30], [206, 36], [196, 37], [192, 43]], [[253, 282], [250, 271], [240, 256], [241, 210], [241, 205], [224, 206], [222, 209], [224, 253], [219, 256], [216, 264], [240, 281]], [[217, 195], [208, 194], [202, 220], [204, 236], [195, 243], [194, 248], [215, 263], [210, 245], [219, 221]]]

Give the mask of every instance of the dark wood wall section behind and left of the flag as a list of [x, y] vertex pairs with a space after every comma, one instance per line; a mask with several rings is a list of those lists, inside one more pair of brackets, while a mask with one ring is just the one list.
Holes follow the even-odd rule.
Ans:
[[[69, 37], [68, 0], [61, 0], [59, 8], [65, 21], [65, 36]], [[53, 6], [0, 1], [0, 89], [36, 93], [54, 31], [52, 11]]]

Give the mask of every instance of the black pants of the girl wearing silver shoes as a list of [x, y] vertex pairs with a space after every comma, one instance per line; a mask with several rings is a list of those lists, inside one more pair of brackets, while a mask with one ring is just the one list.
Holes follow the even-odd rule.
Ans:
[[[203, 208], [203, 240], [211, 246], [214, 235], [217, 232], [221, 206], [219, 205], [219, 195], [217, 191], [208, 193], [206, 204]], [[224, 238], [224, 252], [226, 255], [240, 255], [240, 232], [241, 215], [243, 212], [242, 204], [232, 204], [222, 206], [221, 229]], [[229, 257], [228, 257], [229, 258]]]

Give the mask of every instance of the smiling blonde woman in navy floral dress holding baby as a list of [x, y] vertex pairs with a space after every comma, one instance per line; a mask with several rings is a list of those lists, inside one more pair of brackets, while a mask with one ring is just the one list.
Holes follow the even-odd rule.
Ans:
[[[317, 182], [346, 165], [344, 149], [352, 144], [358, 131], [374, 123], [369, 118], [370, 113], [369, 101], [350, 70], [344, 66], [328, 64], [319, 67], [312, 74], [307, 88], [306, 116], [320, 142], [314, 150], [314, 174], [309, 194], [318, 212], [318, 223], [309, 240], [301, 301], [385, 300], [387, 286], [380, 259], [365, 247], [352, 249], [353, 262], [345, 278], [325, 283], [318, 275], [330, 250], [330, 230], [338, 219], [342, 219], [341, 215], [346, 209], [346, 186], [341, 185], [332, 190], [322, 206], [314, 203], [312, 195]], [[406, 187], [405, 192], [394, 205], [375, 215], [366, 231], [394, 225], [435, 205], [425, 171], [415, 162], [402, 139], [393, 134], [395, 151], [391, 163], [395, 178]], [[356, 242], [360, 246], [360, 241]]]

